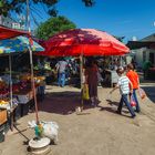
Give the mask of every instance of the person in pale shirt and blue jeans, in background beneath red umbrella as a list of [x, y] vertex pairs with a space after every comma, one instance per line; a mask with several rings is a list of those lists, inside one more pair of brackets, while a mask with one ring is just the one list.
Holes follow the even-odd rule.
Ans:
[[65, 85], [65, 71], [68, 63], [63, 59], [59, 61], [55, 66], [58, 71], [58, 85], [63, 87]]

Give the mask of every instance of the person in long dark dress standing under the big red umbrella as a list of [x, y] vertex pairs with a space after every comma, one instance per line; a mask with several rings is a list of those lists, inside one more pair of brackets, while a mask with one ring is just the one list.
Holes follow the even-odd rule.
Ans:
[[94, 60], [89, 60], [85, 68], [85, 83], [89, 85], [89, 95], [92, 106], [99, 104], [97, 99], [97, 65]]

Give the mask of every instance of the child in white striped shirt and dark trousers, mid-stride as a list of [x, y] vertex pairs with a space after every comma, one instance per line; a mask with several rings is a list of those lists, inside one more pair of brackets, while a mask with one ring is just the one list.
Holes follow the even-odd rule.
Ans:
[[122, 96], [121, 96], [120, 105], [117, 107], [117, 113], [121, 114], [123, 103], [125, 103], [132, 117], [134, 118], [136, 115], [135, 115], [134, 110], [132, 108], [132, 106], [127, 100], [127, 96], [130, 94], [130, 85], [131, 85], [131, 93], [133, 92], [133, 85], [132, 85], [131, 81], [128, 80], [128, 78], [123, 74], [124, 73], [123, 68], [118, 68], [116, 70], [116, 72], [117, 72], [120, 79], [118, 79], [116, 86], [110, 93], [112, 93], [116, 89], [120, 89], [120, 93]]

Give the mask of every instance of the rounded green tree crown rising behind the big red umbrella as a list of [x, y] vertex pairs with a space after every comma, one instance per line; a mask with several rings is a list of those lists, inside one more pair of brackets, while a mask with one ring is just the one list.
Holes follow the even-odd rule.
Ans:
[[48, 40], [58, 32], [74, 28], [76, 28], [76, 25], [65, 17], [54, 17], [41, 23], [35, 31], [35, 35], [39, 39]]

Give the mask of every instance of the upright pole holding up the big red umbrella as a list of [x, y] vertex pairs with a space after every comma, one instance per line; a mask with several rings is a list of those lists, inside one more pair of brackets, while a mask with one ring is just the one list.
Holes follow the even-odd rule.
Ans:
[[81, 107], [83, 110], [83, 97], [82, 97], [82, 91], [83, 91], [83, 55], [80, 55], [80, 79], [81, 79]]

